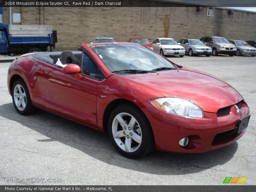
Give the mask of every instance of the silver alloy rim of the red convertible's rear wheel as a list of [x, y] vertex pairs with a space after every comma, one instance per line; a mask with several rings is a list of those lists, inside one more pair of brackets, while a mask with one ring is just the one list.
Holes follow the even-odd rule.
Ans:
[[16, 107], [20, 111], [23, 111], [26, 108], [27, 97], [26, 97], [24, 88], [20, 84], [17, 84], [14, 87], [13, 98], [14, 98]]

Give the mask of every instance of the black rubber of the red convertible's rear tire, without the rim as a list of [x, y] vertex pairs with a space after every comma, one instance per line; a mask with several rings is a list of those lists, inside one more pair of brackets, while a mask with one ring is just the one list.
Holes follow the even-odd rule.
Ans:
[[[26, 100], [26, 107], [23, 110], [20, 110], [16, 104], [15, 104], [15, 100], [14, 100], [14, 88], [16, 87], [16, 85], [21, 85], [21, 88], [23, 89], [23, 91], [26, 94], [26, 98], [24, 100]], [[25, 84], [25, 82], [22, 79], [18, 79], [14, 82], [13, 86], [12, 86], [12, 102], [14, 105], [14, 108], [18, 111], [18, 113], [20, 113], [21, 115], [30, 115], [31, 113], [33, 113], [35, 111], [35, 107], [32, 105], [31, 99], [30, 99], [30, 95], [29, 95], [29, 91], [27, 88], [27, 85]]]

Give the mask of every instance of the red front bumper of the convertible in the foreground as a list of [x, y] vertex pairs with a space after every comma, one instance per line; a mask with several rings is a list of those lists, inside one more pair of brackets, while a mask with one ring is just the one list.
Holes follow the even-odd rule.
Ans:
[[[237, 123], [249, 114], [245, 103], [238, 114], [233, 106], [228, 115], [217, 117], [216, 113], [204, 112], [204, 118], [169, 114], [154, 107], [150, 101], [141, 103], [140, 108], [151, 124], [156, 149], [175, 153], [202, 153], [235, 142], [245, 132], [237, 133]], [[179, 141], [184, 137], [188, 137], [189, 142], [181, 147]]]

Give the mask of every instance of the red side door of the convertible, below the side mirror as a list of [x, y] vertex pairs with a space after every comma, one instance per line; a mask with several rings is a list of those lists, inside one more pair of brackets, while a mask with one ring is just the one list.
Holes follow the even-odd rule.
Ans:
[[[86, 62], [84, 59], [83, 62]], [[87, 55], [89, 59], [89, 55]], [[92, 59], [91, 63], [95, 64]], [[98, 79], [81, 72], [81, 79], [74, 74], [64, 74], [62, 68], [45, 63], [44, 76], [41, 78], [46, 107], [61, 116], [97, 127], [96, 101]], [[83, 68], [82, 68], [83, 70]], [[89, 75], [88, 75], [89, 74]], [[93, 72], [95, 74], [95, 72]]]

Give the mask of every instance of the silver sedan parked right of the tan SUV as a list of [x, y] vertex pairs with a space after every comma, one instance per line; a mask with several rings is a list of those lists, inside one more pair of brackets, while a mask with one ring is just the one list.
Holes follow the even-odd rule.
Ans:
[[238, 40], [228, 40], [230, 43], [236, 45], [236, 55], [251, 55], [252, 57], [255, 57], [256, 55], [256, 48], [250, 46], [245, 41], [238, 41]]

